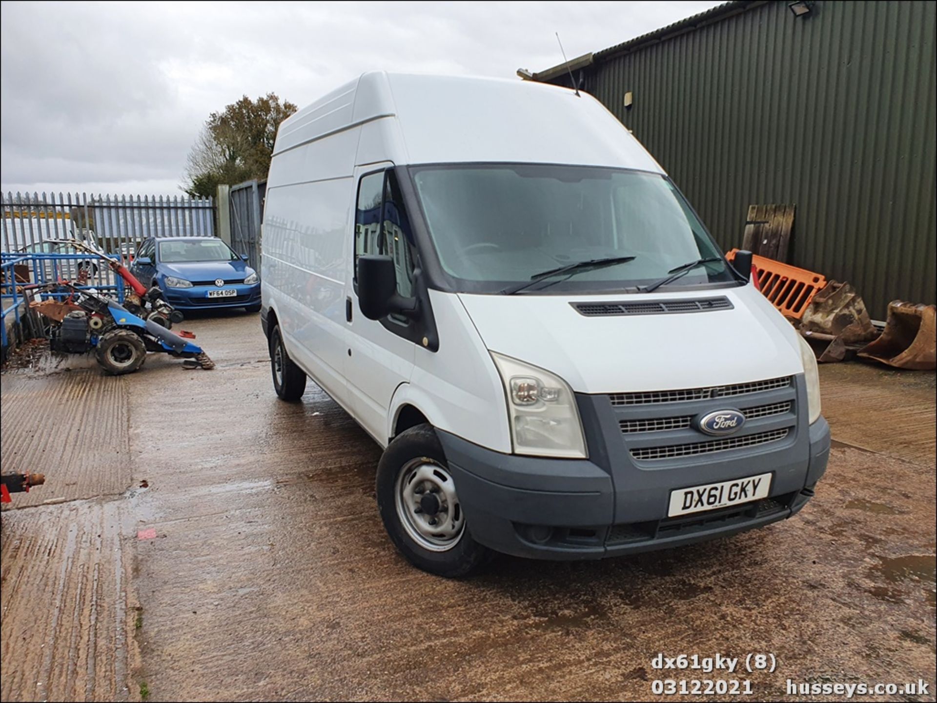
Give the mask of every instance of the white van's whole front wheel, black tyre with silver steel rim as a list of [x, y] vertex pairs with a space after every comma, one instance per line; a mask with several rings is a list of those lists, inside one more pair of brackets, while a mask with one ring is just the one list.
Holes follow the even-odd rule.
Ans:
[[449, 579], [478, 571], [491, 556], [468, 532], [454, 478], [432, 425], [400, 432], [378, 463], [378, 508], [410, 564]]

